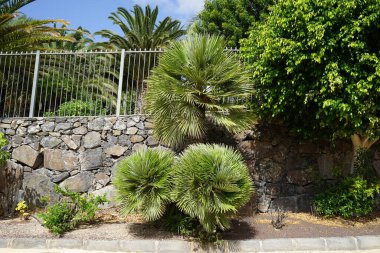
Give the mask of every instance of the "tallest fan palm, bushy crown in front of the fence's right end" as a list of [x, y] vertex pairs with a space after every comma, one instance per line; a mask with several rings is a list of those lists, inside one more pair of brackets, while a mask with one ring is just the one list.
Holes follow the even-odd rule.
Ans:
[[230, 132], [253, 122], [242, 103], [252, 92], [248, 73], [225, 45], [221, 37], [194, 35], [161, 55], [144, 97], [159, 141], [202, 139], [210, 122]]

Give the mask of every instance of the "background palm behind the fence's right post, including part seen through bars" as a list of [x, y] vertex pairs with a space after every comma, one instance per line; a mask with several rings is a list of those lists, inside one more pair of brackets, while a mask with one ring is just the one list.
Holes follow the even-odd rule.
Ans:
[[[180, 21], [172, 20], [170, 17], [158, 21], [157, 18], [158, 7], [152, 10], [147, 5], [145, 12], [139, 5], [135, 5], [131, 11], [120, 7], [117, 12], [111, 13], [109, 19], [121, 28], [123, 34], [119, 35], [109, 30], [102, 30], [95, 34], [108, 39], [107, 42], [102, 43], [105, 48], [128, 50], [164, 47], [186, 33]], [[133, 52], [126, 56], [123, 89], [124, 93], [131, 94], [131, 99], [137, 103], [133, 105], [124, 103], [134, 107], [132, 111], [135, 113], [142, 112], [141, 96], [146, 87], [144, 80], [156, 62], [156, 55]]]

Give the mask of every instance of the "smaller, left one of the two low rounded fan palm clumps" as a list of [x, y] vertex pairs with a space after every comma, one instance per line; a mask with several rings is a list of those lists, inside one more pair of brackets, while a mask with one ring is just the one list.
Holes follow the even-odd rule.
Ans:
[[173, 152], [158, 149], [140, 149], [121, 161], [114, 185], [122, 213], [139, 212], [148, 221], [162, 217], [171, 202], [173, 163]]

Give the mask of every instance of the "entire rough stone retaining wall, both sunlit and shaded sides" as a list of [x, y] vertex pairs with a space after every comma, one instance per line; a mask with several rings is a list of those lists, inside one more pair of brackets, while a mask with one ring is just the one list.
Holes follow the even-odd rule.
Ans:
[[[32, 205], [41, 204], [44, 196], [56, 200], [55, 184], [111, 196], [118, 160], [139, 148], [161, 147], [145, 116], [0, 119], [0, 131], [10, 140], [12, 153], [7, 172], [0, 171], [0, 207], [10, 192], [17, 195], [9, 211], [19, 199]], [[347, 174], [350, 169], [350, 142], [302, 142], [281, 127], [265, 125], [233, 138], [220, 131], [211, 137], [211, 142], [237, 145], [243, 153], [256, 187], [251, 204], [261, 212], [277, 207], [310, 211], [310, 196], [321, 180], [333, 181], [334, 170]], [[380, 175], [380, 145], [373, 154]], [[11, 188], [7, 198], [1, 188], [5, 183]]]

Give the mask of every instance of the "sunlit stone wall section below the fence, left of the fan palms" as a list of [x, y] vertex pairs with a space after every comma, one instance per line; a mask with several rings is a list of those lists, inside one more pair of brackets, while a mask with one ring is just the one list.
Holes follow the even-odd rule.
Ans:
[[136, 149], [158, 146], [145, 116], [2, 119], [11, 163], [20, 166], [18, 198], [54, 201], [54, 184], [76, 192], [112, 191], [114, 164]]

